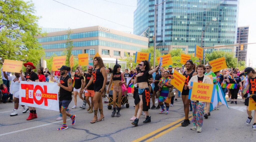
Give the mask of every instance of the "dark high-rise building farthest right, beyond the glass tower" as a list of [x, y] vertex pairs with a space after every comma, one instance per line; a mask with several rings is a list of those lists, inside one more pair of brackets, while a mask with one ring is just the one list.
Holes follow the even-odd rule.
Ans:
[[[237, 28], [237, 43], [238, 44], [246, 44], [248, 43], [249, 35], [249, 26], [240, 26]], [[243, 51], [240, 46], [236, 47], [236, 57], [238, 57], [238, 61], [246, 61], [247, 55], [247, 47], [248, 45], [243, 45]], [[239, 52], [238, 52], [239, 51]], [[239, 54], [238, 54], [239, 53]]]

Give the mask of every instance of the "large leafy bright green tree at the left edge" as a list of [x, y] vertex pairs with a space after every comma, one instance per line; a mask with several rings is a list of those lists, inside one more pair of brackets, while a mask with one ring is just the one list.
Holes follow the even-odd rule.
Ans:
[[0, 64], [4, 59], [38, 64], [45, 52], [36, 36], [40, 34], [38, 17], [32, 2], [0, 1]]

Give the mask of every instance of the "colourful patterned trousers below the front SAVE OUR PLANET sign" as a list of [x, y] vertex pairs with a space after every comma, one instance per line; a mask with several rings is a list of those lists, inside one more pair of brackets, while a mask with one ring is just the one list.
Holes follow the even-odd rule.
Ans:
[[199, 103], [199, 102], [191, 101], [191, 104], [193, 108], [193, 115], [192, 115], [193, 125], [202, 127], [203, 121], [204, 121], [203, 113], [204, 113], [205, 102]]

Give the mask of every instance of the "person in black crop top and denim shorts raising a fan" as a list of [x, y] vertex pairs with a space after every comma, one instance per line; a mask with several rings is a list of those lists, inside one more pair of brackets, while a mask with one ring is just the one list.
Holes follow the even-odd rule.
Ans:
[[149, 116], [148, 109], [150, 109], [150, 92], [148, 89], [148, 79], [151, 74], [157, 71], [158, 66], [150, 70], [150, 65], [147, 60], [141, 61], [139, 64], [140, 67], [140, 73], [136, 75], [136, 78], [134, 79], [134, 84], [138, 84], [138, 94], [140, 97], [140, 103], [139, 103], [139, 110], [137, 113], [136, 119], [132, 122], [133, 125], [138, 126], [139, 118], [143, 111], [146, 113], [146, 120], [143, 121], [143, 123], [149, 123], [151, 122], [151, 117]]

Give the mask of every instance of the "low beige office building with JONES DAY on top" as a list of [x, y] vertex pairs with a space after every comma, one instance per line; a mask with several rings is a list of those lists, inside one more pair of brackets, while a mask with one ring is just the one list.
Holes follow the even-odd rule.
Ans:
[[[89, 53], [92, 60], [98, 52], [102, 58], [126, 58], [126, 54], [134, 55], [136, 51], [148, 48], [148, 38], [129, 34], [102, 26], [72, 29], [70, 39], [73, 41], [72, 54]], [[67, 30], [38, 36], [38, 41], [45, 49], [46, 58], [53, 54], [62, 55], [66, 48]], [[90, 50], [93, 49], [93, 50]]]

